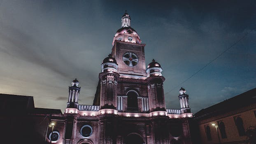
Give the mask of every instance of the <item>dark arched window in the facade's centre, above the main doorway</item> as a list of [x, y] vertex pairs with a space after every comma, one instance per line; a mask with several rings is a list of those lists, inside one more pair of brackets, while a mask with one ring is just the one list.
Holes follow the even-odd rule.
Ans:
[[128, 110], [138, 110], [138, 99], [137, 99], [137, 93], [134, 91], [129, 91], [127, 93], [127, 109]]

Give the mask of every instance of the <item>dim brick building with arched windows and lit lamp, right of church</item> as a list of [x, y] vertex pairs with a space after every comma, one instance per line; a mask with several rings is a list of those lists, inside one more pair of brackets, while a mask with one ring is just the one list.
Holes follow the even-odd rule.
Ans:
[[246, 131], [256, 126], [256, 88], [198, 111], [195, 120], [202, 144], [247, 144]]

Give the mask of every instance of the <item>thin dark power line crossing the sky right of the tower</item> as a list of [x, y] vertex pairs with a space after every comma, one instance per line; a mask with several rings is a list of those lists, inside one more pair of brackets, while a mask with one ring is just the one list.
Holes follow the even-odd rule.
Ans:
[[189, 80], [191, 77], [193, 77], [195, 74], [197, 74], [198, 72], [200, 72], [201, 70], [203, 70], [205, 67], [207, 67], [209, 64], [211, 64], [212, 62], [214, 62], [214, 60], [216, 60], [217, 58], [219, 58], [223, 53], [225, 53], [226, 51], [228, 51], [229, 49], [231, 49], [233, 46], [235, 46], [238, 42], [240, 42], [242, 39], [244, 39], [244, 37], [246, 37], [247, 35], [249, 35], [255, 28], [251, 29], [249, 32], [247, 32], [244, 36], [242, 36], [240, 39], [238, 39], [234, 44], [232, 44], [231, 46], [228, 47], [228, 49], [226, 49], [225, 51], [223, 51], [222, 53], [220, 53], [218, 56], [216, 56], [216, 58], [212, 59], [209, 63], [207, 63], [205, 66], [203, 66], [200, 70], [198, 70], [197, 72], [195, 72], [194, 74], [192, 74], [189, 78], [185, 79], [184, 81], [182, 81], [182, 83], [180, 83], [179, 85], [175, 86], [174, 88], [172, 88], [170, 91], [168, 91], [166, 94], [170, 93], [171, 91], [173, 91], [175, 88], [177, 88], [178, 86], [182, 85], [184, 82], [186, 82], [187, 80]]

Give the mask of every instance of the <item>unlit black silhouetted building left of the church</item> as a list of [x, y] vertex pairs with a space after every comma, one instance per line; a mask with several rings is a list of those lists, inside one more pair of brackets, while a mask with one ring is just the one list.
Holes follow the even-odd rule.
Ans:
[[47, 128], [59, 109], [35, 108], [31, 96], [0, 94], [0, 143], [46, 144]]

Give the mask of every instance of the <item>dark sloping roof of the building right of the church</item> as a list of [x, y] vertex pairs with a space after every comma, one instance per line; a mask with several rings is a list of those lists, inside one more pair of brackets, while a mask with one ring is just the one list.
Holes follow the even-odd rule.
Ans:
[[216, 116], [218, 114], [223, 114], [228, 111], [232, 111], [241, 107], [245, 107], [247, 105], [256, 103], [256, 88], [251, 89], [247, 92], [244, 92], [240, 95], [236, 95], [233, 98], [228, 100], [224, 100], [223, 102], [219, 102], [216, 105], [212, 105], [205, 109], [201, 109], [197, 113], [195, 113], [195, 117], [209, 117]]

